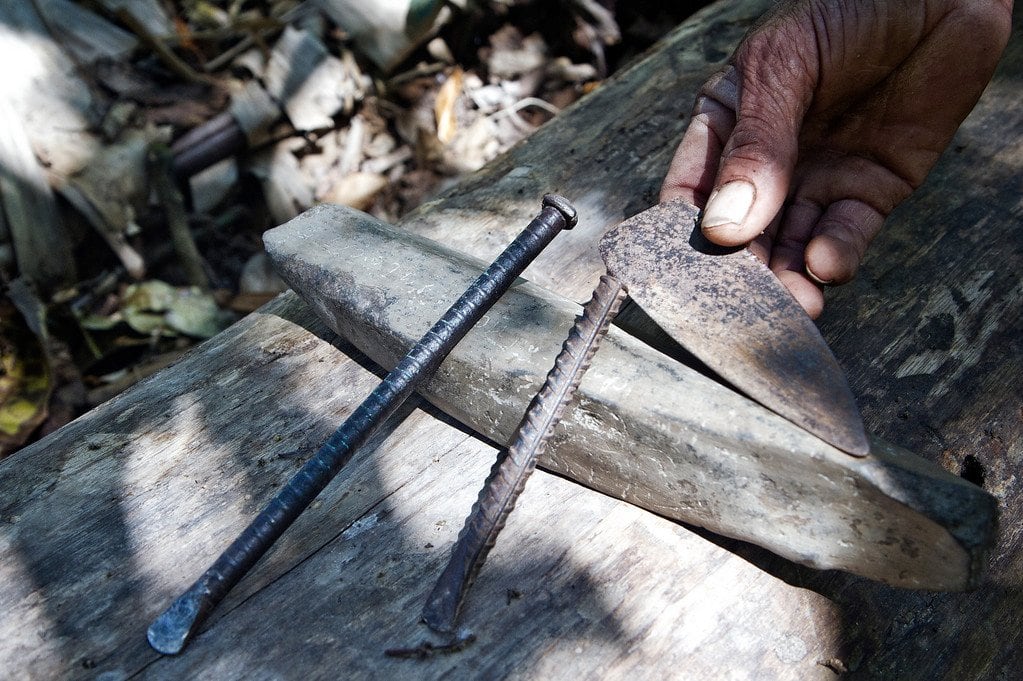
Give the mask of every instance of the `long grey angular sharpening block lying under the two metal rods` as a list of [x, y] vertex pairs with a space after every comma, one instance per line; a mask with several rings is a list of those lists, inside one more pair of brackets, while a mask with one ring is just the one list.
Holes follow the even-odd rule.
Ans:
[[[284, 280], [389, 368], [481, 270], [344, 207], [308, 211], [264, 239]], [[507, 442], [578, 313], [524, 281], [422, 394]], [[975, 586], [994, 536], [994, 499], [975, 485], [880, 441], [865, 459], [849, 456], [622, 331], [609, 334], [551, 444], [543, 465], [593, 489], [896, 586]]]

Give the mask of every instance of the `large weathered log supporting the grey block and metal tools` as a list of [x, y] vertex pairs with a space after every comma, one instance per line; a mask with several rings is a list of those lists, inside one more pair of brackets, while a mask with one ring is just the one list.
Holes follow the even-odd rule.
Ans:
[[[493, 230], [494, 245], [476, 254], [487, 258], [503, 244], [496, 232], [521, 228], [543, 191], [588, 197], [581, 209], [604, 226], [654, 202], [678, 114], [766, 4], [712, 7], [498, 162], [503, 171], [485, 171], [465, 198], [425, 208], [420, 231], [450, 225], [462, 233], [450, 243], [466, 247], [465, 235]], [[351, 349], [321, 340], [325, 329], [287, 296], [0, 465], [3, 675], [805, 679], [848, 668], [858, 678], [1014, 678], [1021, 38], [938, 172], [890, 221], [859, 278], [833, 291], [822, 320], [868, 427], [982, 479], [999, 499], [998, 545], [977, 591], [817, 573], [539, 472], [466, 605], [477, 643], [393, 661], [382, 648], [421, 636], [418, 608], [494, 454], [426, 409], [353, 462], [183, 655], [158, 659], [144, 640], [152, 617], [294, 471], [296, 457], [280, 455], [311, 453], [375, 378]], [[609, 112], [617, 120], [601, 123]], [[565, 155], [545, 155], [552, 149]], [[572, 238], [589, 253], [584, 236]], [[564, 270], [575, 259], [549, 262]], [[592, 286], [587, 276], [577, 290]]]

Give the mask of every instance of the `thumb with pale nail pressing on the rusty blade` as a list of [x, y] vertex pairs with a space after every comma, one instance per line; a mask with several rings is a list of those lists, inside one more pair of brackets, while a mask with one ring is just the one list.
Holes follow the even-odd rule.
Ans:
[[721, 245], [748, 243], [782, 210], [812, 98], [812, 75], [780, 58], [769, 43], [751, 36], [728, 74], [739, 92], [736, 125], [702, 223], [707, 238]]

